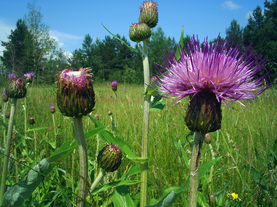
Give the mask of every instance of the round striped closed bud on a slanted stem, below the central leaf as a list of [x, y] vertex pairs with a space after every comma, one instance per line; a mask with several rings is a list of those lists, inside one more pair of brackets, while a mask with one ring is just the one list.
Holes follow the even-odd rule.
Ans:
[[98, 154], [97, 163], [107, 172], [116, 171], [121, 164], [122, 152], [116, 144], [107, 144]]

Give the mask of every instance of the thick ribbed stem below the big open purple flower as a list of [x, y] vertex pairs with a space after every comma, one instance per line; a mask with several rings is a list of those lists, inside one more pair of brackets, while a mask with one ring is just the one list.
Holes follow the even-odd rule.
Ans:
[[189, 197], [188, 207], [196, 207], [198, 189], [198, 171], [204, 136], [199, 132], [194, 134], [194, 144], [191, 152], [189, 169]]

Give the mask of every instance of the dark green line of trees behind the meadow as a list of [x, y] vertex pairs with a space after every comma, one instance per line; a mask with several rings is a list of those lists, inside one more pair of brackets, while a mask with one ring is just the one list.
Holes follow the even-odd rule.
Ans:
[[[262, 52], [266, 64], [259, 75], [269, 71], [273, 76], [271, 81], [274, 81], [277, 78], [277, 1], [266, 0], [264, 4], [264, 13], [257, 6], [244, 28], [234, 19], [225, 33], [226, 39], [232, 36], [233, 46], [244, 41], [241, 52], [250, 44], [253, 49]], [[119, 82], [143, 83], [142, 57], [116, 38], [105, 36], [102, 40], [96, 38], [93, 41], [87, 34], [82, 48], [75, 49], [72, 56], [67, 57], [57, 42], [50, 38], [49, 26], [42, 22], [40, 7], [32, 2], [27, 4], [27, 8], [29, 13], [24, 15], [23, 20], [17, 21], [16, 29], [8, 36], [9, 41], [1, 41], [1, 45], [5, 47], [3, 56], [0, 57], [2, 77], [7, 72], [22, 75], [35, 71], [38, 82], [53, 83], [55, 72], [63, 68], [92, 67], [96, 81], [117, 79]], [[129, 38], [117, 36], [130, 45]], [[189, 39], [189, 35], [184, 37], [182, 47], [186, 50]], [[148, 55], [150, 71], [157, 73], [153, 63], [163, 63], [164, 53], [168, 55], [168, 48], [176, 51], [178, 42], [174, 37], [166, 37], [161, 27], [152, 31]]]

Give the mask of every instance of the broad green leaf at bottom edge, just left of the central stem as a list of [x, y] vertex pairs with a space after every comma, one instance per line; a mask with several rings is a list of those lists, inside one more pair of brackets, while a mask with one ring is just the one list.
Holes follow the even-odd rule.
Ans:
[[126, 185], [116, 187], [112, 201], [115, 207], [135, 207], [135, 202], [132, 200]]

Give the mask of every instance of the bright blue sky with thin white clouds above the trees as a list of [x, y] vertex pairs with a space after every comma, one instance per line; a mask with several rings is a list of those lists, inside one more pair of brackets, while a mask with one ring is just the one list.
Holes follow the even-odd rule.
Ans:
[[[16, 22], [29, 11], [25, 0], [0, 1], [0, 40], [7, 41]], [[61, 48], [69, 53], [82, 47], [84, 36], [89, 34], [93, 41], [98, 37], [110, 35], [101, 23], [112, 33], [119, 33], [129, 40], [129, 28], [138, 22], [139, 7], [142, 0], [37, 0], [41, 7], [43, 22], [50, 26], [50, 36], [57, 39]], [[182, 26], [184, 35], [198, 35], [203, 41], [206, 36], [214, 39], [220, 33], [225, 37], [225, 30], [231, 20], [236, 19], [240, 26], [247, 24], [249, 15], [257, 5], [264, 10], [264, 0], [157, 0], [159, 21], [165, 35], [179, 40]], [[155, 28], [154, 28], [155, 30]], [[130, 40], [129, 40], [130, 41]], [[135, 43], [130, 41], [131, 45]], [[0, 51], [4, 48], [0, 46]], [[2, 52], [0, 52], [0, 55]]]

